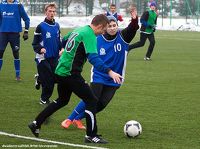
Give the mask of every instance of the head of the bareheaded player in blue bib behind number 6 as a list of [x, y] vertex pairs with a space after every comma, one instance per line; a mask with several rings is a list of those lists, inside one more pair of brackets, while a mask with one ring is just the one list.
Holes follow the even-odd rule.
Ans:
[[55, 3], [49, 3], [44, 8], [46, 18], [48, 20], [53, 20], [56, 15], [56, 4]]

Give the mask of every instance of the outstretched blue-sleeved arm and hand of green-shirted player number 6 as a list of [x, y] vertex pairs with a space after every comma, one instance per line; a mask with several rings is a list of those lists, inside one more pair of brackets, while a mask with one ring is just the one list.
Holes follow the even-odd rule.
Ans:
[[112, 71], [104, 62], [99, 58], [96, 53], [87, 54], [88, 61], [99, 71], [107, 73], [115, 83], [121, 84], [122, 76]]

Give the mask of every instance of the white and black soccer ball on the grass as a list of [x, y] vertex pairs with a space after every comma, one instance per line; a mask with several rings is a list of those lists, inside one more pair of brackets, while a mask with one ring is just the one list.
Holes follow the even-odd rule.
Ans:
[[130, 120], [124, 125], [124, 134], [129, 138], [134, 138], [142, 133], [142, 126], [135, 120]]

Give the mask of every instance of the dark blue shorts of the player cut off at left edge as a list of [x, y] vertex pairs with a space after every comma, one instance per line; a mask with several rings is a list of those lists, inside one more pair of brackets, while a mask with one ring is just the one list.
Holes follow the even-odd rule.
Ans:
[[2, 33], [0, 32], [0, 50], [5, 51], [8, 42], [13, 51], [19, 51], [20, 34], [19, 33]]

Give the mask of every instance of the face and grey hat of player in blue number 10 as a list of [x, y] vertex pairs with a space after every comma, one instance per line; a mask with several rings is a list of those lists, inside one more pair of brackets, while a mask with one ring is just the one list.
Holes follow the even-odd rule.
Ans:
[[118, 31], [118, 23], [117, 23], [117, 19], [114, 16], [107, 16], [108, 20], [109, 20], [109, 24], [108, 24], [108, 28], [107, 28], [107, 33], [109, 35], [115, 35]]

